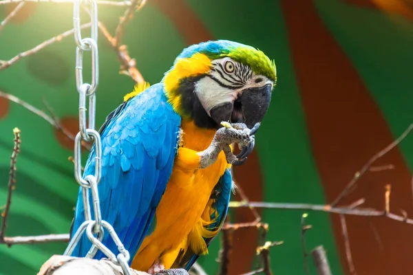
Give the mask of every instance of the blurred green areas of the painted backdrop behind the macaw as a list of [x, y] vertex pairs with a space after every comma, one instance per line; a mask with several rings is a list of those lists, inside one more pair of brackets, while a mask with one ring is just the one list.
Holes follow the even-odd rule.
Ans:
[[[151, 3], [149, 0], [137, 12], [126, 28], [123, 40], [128, 45], [130, 56], [136, 58], [139, 71], [151, 84], [159, 82], [174, 58], [188, 45], [188, 38], [158, 2]], [[306, 116], [295, 76], [282, 1], [185, 0], [176, 1], [176, 9], [182, 5], [181, 2], [204, 24], [214, 39], [253, 45], [277, 63], [279, 81], [257, 139], [264, 201], [326, 203], [306, 129]], [[297, 9], [300, 9], [298, 2], [301, 1], [296, 2]], [[412, 23], [399, 15], [385, 14], [381, 10], [360, 7], [348, 1], [310, 2], [330, 35], [341, 45], [363, 78], [392, 133], [401, 133], [413, 116], [412, 112], [400, 111], [409, 109], [413, 100], [412, 93], [407, 93], [407, 87], [412, 82]], [[0, 21], [10, 11], [8, 7], [10, 4], [0, 5]], [[102, 5], [98, 9], [98, 17], [113, 34], [124, 10]], [[0, 60], [8, 60], [72, 28], [70, 3], [30, 3], [30, 9], [25, 12], [20, 21], [12, 21], [0, 30]], [[86, 18], [83, 16], [83, 23]], [[299, 17], [296, 20], [299, 21]], [[196, 33], [197, 30], [189, 32]], [[83, 32], [83, 36], [87, 35], [87, 32]], [[383, 36], [385, 39], [381, 40]], [[361, 39], [363, 37], [366, 39]], [[134, 86], [131, 78], [118, 73], [116, 54], [101, 34], [98, 46], [100, 80], [97, 126], [103, 123], [105, 116], [122, 102], [123, 95]], [[90, 79], [89, 55], [85, 54], [84, 59], [84, 79], [87, 81]], [[43, 104], [45, 100], [66, 126], [76, 129], [78, 93], [74, 63], [75, 43], [73, 37], [69, 36], [1, 70], [0, 90], [42, 110], [46, 110]], [[388, 81], [378, 80], [383, 78]], [[73, 164], [67, 160], [73, 155], [72, 148], [67, 146], [70, 143], [61, 138], [59, 140], [56, 131], [42, 118], [18, 104], [1, 100], [0, 206], [6, 201], [14, 127], [21, 129], [22, 140], [17, 162], [17, 188], [13, 194], [6, 234], [66, 233], [72, 221], [78, 190]], [[401, 146], [410, 167], [413, 158], [407, 152], [411, 151], [411, 147], [411, 142]], [[84, 159], [86, 157], [85, 153]], [[263, 212], [263, 219], [271, 228], [268, 239], [284, 241], [284, 245], [273, 248], [271, 252], [274, 274], [304, 274], [299, 227], [302, 213], [298, 210]], [[343, 254], [337, 250], [328, 214], [310, 213], [307, 221], [316, 228], [306, 236], [308, 248], [324, 245], [332, 273], [343, 274], [342, 263], [345, 262], [341, 261]], [[215, 240], [209, 256], [199, 261], [209, 274], [218, 271], [215, 259], [218, 258], [219, 247], [220, 242]], [[14, 245], [12, 248], [0, 245], [0, 275], [35, 274], [52, 254], [61, 254], [64, 250], [64, 243]], [[311, 263], [310, 271], [315, 274], [315, 267]]]

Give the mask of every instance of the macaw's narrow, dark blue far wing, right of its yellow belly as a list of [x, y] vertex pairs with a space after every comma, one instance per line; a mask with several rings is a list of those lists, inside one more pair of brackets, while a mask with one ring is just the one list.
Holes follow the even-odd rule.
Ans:
[[[211, 214], [211, 220], [215, 219], [215, 222], [207, 225], [206, 228], [209, 230], [216, 230], [216, 228], [220, 228], [225, 221], [226, 214], [228, 212], [229, 200], [231, 199], [231, 188], [232, 188], [232, 175], [231, 170], [226, 169], [224, 175], [220, 177], [218, 180], [218, 184], [215, 186], [211, 198], [214, 198], [215, 201], [212, 204], [212, 208], [216, 210], [218, 214], [218, 219], [215, 219], [215, 211]], [[205, 243], [207, 246], [213, 238], [204, 238]], [[185, 270], [189, 270], [191, 266], [195, 263], [200, 255], [195, 254], [191, 249], [187, 250], [182, 255], [182, 258], [178, 258], [178, 263], [176, 263], [177, 267], [184, 268]]]

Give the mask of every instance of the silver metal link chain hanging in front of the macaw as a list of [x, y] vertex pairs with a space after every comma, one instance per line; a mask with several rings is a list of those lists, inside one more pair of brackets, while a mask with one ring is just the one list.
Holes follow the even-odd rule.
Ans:
[[[93, 258], [96, 252], [100, 250], [112, 262], [122, 267], [125, 275], [131, 275], [131, 270], [128, 265], [130, 259], [129, 252], [125, 249], [122, 241], [120, 241], [112, 225], [107, 221], [102, 220], [100, 213], [100, 203], [98, 195], [98, 184], [102, 169], [102, 144], [100, 135], [95, 130], [95, 111], [96, 111], [96, 88], [99, 82], [99, 66], [98, 66], [98, 9], [96, 0], [85, 0], [90, 5], [91, 19], [91, 37], [82, 39], [81, 36], [81, 1], [74, 0], [73, 5], [73, 25], [74, 25], [74, 41], [76, 42], [76, 88], [79, 93], [79, 132], [74, 140], [74, 177], [82, 188], [83, 208], [85, 210], [85, 221], [78, 228], [69, 245], [67, 245], [64, 255], [72, 254], [78, 241], [80, 241], [83, 233], [86, 233], [87, 238], [92, 243], [92, 247], [87, 252], [86, 258]], [[92, 80], [91, 83], [83, 83], [83, 52], [92, 52]], [[89, 118], [87, 121], [86, 102], [89, 99]], [[94, 141], [95, 151], [95, 170], [94, 175], [86, 175], [82, 177], [82, 157], [81, 157], [81, 142]], [[89, 192], [89, 189], [91, 192]], [[90, 195], [92, 193], [94, 219], [92, 219], [90, 209]], [[118, 247], [119, 254], [115, 255], [103, 243], [103, 235], [105, 230], [112, 237], [114, 243]]]

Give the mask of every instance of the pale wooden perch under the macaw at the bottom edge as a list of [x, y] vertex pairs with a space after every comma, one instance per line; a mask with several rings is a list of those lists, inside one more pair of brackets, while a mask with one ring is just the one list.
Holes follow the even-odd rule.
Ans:
[[[72, 256], [54, 255], [45, 262], [37, 275], [124, 275], [122, 268], [109, 259], [92, 260]], [[183, 269], [163, 270], [159, 275], [189, 275]], [[149, 275], [131, 270], [131, 275]]]

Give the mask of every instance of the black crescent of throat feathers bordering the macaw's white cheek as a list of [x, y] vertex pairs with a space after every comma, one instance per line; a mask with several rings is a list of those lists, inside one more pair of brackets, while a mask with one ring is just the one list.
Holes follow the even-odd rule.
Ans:
[[205, 111], [195, 94], [195, 83], [205, 76], [191, 76], [180, 80], [178, 94], [181, 96], [181, 107], [185, 115], [193, 120], [196, 126], [207, 129], [218, 129], [218, 125]]

